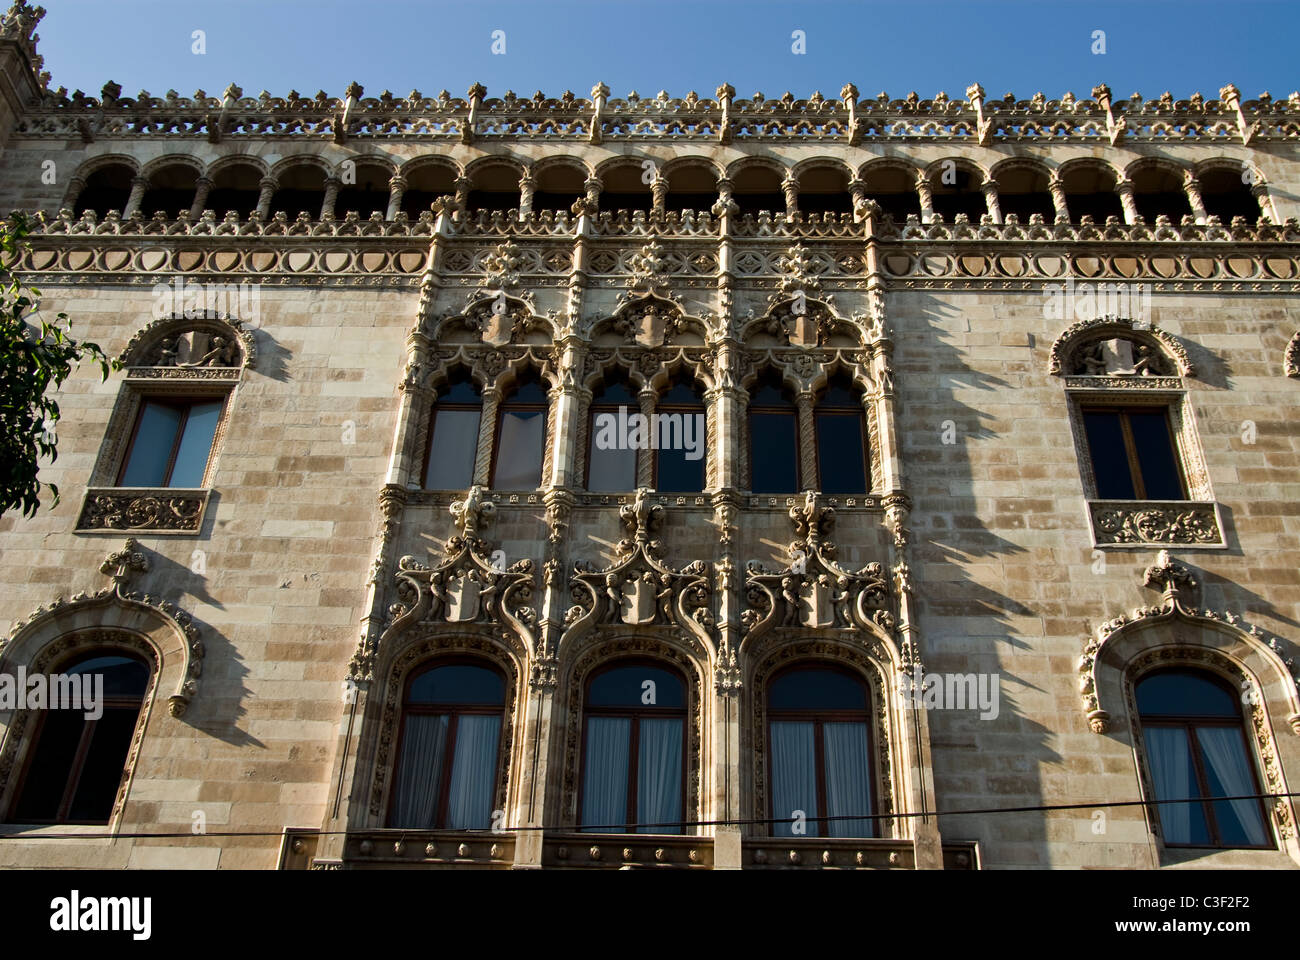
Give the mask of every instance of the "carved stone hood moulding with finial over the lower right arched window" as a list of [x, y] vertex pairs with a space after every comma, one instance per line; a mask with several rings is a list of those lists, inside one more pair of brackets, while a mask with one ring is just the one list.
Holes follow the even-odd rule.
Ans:
[[[1161, 550], [1156, 562], [1144, 571], [1144, 584], [1161, 591], [1158, 605], [1136, 607], [1119, 614], [1097, 627], [1096, 633], [1084, 640], [1079, 658], [1079, 695], [1088, 726], [1095, 734], [1112, 728], [1112, 697], [1121, 696], [1119, 676], [1132, 662], [1152, 649], [1152, 641], [1143, 639], [1148, 627], [1174, 628], [1173, 653], [1193, 658], [1216, 654], [1236, 665], [1236, 671], [1249, 687], [1243, 699], [1261, 704], [1261, 686], [1265, 678], [1280, 683], [1287, 709], [1287, 722], [1300, 735], [1300, 678], [1296, 676], [1294, 657], [1283, 641], [1269, 636], [1258, 627], [1247, 624], [1231, 611], [1199, 610], [1191, 605], [1199, 585], [1183, 563]], [[1188, 640], [1183, 632], [1195, 631], [1199, 640]], [[1112, 708], [1112, 709], [1106, 709]]]

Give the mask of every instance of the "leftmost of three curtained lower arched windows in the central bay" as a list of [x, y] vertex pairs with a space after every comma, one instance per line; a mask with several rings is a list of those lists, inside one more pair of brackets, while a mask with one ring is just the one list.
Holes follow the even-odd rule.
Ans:
[[488, 830], [506, 680], [480, 663], [436, 663], [407, 682], [389, 826]]

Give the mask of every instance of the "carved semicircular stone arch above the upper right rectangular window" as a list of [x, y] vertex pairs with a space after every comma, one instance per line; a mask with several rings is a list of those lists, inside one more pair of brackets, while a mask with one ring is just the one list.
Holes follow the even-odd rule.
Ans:
[[1115, 381], [1196, 376], [1178, 337], [1152, 324], [1118, 316], [1080, 320], [1067, 327], [1052, 343], [1048, 372]]

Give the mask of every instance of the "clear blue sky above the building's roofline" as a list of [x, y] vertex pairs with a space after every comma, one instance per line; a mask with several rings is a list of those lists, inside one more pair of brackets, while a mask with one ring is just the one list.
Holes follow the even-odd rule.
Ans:
[[[3, 1], [3, 0], [0, 0]], [[572, 90], [604, 81], [615, 96], [696, 90], [723, 81], [738, 96], [786, 90], [838, 96], [852, 81], [923, 98], [965, 96], [972, 81], [991, 98], [1014, 91], [1087, 96], [1106, 82], [1135, 91], [1218, 96], [1232, 82], [1251, 99], [1300, 87], [1296, 0], [43, 0], [38, 33], [53, 86], [98, 95], [235, 82], [339, 95], [352, 79], [368, 95], [391, 90], [489, 95]], [[194, 52], [195, 30], [205, 52]], [[504, 53], [493, 33], [504, 31]], [[802, 30], [806, 52], [793, 52]], [[1105, 53], [1095, 31], [1104, 31]], [[499, 43], [498, 43], [499, 48]]]

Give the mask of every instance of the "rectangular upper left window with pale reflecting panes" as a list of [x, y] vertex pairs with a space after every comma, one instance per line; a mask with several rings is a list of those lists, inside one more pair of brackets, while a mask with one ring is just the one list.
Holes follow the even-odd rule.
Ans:
[[121, 487], [203, 487], [224, 401], [147, 399], [118, 477]]

